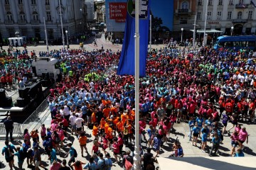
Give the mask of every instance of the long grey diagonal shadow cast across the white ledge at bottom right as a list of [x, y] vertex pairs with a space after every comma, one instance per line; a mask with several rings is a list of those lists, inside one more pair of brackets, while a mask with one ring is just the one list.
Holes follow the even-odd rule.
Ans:
[[246, 166], [240, 166], [237, 164], [230, 164], [228, 162], [221, 162], [221, 161], [216, 161], [213, 159], [207, 159], [204, 157], [183, 157], [182, 159], [178, 158], [171, 158], [179, 162], [187, 162], [189, 164], [201, 166], [207, 169], [221, 169], [221, 170], [254, 170], [255, 168], [250, 168]]

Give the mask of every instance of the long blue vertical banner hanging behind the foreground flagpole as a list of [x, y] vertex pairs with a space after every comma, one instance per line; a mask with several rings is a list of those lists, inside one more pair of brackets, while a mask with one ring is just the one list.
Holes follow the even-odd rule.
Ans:
[[[127, 18], [124, 30], [122, 54], [117, 69], [118, 75], [135, 75], [135, 0], [127, 1]], [[139, 77], [146, 76], [146, 56], [149, 42], [150, 0], [139, 1]]]

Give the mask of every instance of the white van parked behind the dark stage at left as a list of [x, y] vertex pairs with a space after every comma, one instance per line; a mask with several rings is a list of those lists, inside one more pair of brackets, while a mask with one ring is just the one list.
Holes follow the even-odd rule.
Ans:
[[41, 77], [43, 73], [49, 73], [50, 79], [55, 81], [60, 74], [58, 60], [51, 57], [36, 57], [32, 62], [32, 67], [36, 67], [36, 74]]

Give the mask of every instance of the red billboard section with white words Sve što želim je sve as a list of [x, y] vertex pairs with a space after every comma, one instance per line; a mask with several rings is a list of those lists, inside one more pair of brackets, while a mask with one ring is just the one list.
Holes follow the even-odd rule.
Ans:
[[127, 3], [110, 2], [110, 19], [114, 19], [117, 23], [125, 23], [127, 15]]

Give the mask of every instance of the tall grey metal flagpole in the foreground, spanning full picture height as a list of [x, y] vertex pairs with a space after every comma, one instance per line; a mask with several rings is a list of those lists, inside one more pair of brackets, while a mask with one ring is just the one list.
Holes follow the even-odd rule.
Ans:
[[139, 0], [135, 0], [135, 147], [134, 169], [141, 169], [139, 157]]

